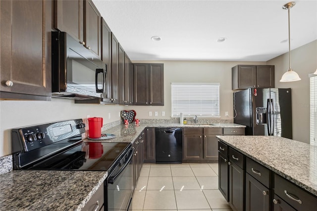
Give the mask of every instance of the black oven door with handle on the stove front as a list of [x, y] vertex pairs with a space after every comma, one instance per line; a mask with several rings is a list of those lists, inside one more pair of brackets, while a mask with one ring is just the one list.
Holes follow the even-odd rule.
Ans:
[[[105, 209], [108, 211], [127, 211], [132, 200], [134, 149], [116, 163], [106, 179]], [[131, 209], [131, 208], [130, 208]]]

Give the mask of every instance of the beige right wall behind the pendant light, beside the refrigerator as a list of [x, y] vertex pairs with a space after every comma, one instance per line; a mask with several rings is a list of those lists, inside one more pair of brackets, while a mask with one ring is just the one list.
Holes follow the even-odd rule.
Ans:
[[289, 66], [289, 54], [285, 53], [267, 61], [275, 65], [275, 87], [292, 88], [293, 139], [310, 143], [309, 73], [317, 69], [317, 40], [291, 51], [291, 68], [302, 80], [279, 82]]

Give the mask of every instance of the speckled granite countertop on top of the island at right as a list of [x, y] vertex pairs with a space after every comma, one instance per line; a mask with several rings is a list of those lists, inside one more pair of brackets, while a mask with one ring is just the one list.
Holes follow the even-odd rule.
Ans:
[[317, 146], [276, 136], [217, 137], [317, 196]]

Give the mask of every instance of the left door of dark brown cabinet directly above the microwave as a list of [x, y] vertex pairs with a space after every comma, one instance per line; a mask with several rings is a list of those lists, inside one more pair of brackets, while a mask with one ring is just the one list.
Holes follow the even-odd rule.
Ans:
[[84, 1], [54, 0], [54, 27], [84, 43]]

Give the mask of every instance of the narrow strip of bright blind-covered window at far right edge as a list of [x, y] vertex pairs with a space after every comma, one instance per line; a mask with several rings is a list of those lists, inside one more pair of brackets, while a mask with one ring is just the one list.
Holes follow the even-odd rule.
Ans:
[[317, 75], [310, 77], [310, 142], [317, 146]]

